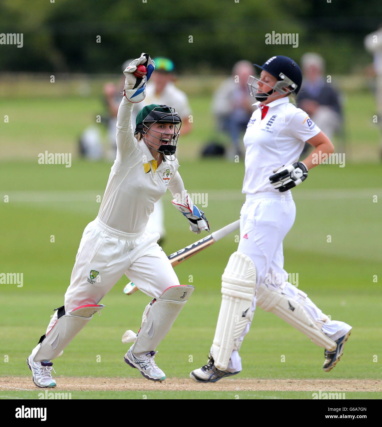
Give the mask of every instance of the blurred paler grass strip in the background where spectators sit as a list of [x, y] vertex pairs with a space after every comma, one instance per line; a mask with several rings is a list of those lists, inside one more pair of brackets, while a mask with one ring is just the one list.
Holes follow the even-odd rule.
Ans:
[[[54, 87], [48, 84], [54, 91]], [[188, 91], [187, 85], [181, 88]], [[333, 142], [339, 152], [346, 151], [347, 161], [380, 161], [380, 132], [373, 123], [376, 105], [368, 91], [343, 93], [345, 115], [345, 146], [338, 138]], [[178, 146], [180, 160], [196, 159], [202, 146], [216, 138], [215, 122], [211, 112], [211, 95], [200, 91], [190, 96], [193, 131], [181, 136]], [[362, 108], [359, 106], [362, 105]], [[77, 143], [81, 132], [96, 123], [97, 115], [105, 114], [99, 97], [23, 97], [0, 98], [0, 117], [8, 116], [9, 123], [0, 120], [1, 158], [33, 158], [40, 152], [70, 152], [77, 155]], [[227, 139], [221, 135], [221, 142]], [[107, 143], [105, 142], [105, 146]]]

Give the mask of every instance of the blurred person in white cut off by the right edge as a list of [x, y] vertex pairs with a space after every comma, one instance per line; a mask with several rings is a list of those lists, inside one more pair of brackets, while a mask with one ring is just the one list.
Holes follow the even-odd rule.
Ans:
[[366, 50], [373, 54], [373, 74], [376, 78], [377, 120], [382, 130], [382, 25], [377, 31], [365, 37], [364, 45]]

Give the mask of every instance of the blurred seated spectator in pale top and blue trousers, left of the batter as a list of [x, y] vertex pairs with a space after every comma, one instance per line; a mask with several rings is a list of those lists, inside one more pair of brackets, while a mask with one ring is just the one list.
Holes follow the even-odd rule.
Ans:
[[[248, 92], [247, 82], [248, 77], [254, 73], [255, 69], [249, 61], [236, 62], [232, 76], [224, 80], [214, 94], [212, 111], [217, 120], [217, 127], [228, 133], [235, 155], [242, 154], [240, 134], [247, 129], [253, 112], [253, 98]], [[232, 152], [232, 149], [230, 151]]]

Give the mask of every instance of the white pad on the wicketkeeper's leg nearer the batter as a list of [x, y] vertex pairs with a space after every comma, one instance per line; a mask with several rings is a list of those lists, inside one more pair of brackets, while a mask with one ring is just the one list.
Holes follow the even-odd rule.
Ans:
[[141, 329], [131, 347], [133, 353], [155, 351], [194, 289], [191, 285], [171, 286], [147, 305], [142, 316]]

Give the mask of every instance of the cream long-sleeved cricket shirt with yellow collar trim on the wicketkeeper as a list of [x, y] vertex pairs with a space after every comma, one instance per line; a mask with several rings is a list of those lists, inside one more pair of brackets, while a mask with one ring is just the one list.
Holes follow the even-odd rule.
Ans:
[[134, 137], [132, 108], [133, 104], [123, 97], [117, 116], [117, 158], [98, 218], [115, 230], [135, 234], [144, 231], [154, 203], [167, 188], [173, 197], [184, 195], [185, 188], [177, 172], [178, 160], [162, 161], [157, 167], [144, 141]]

